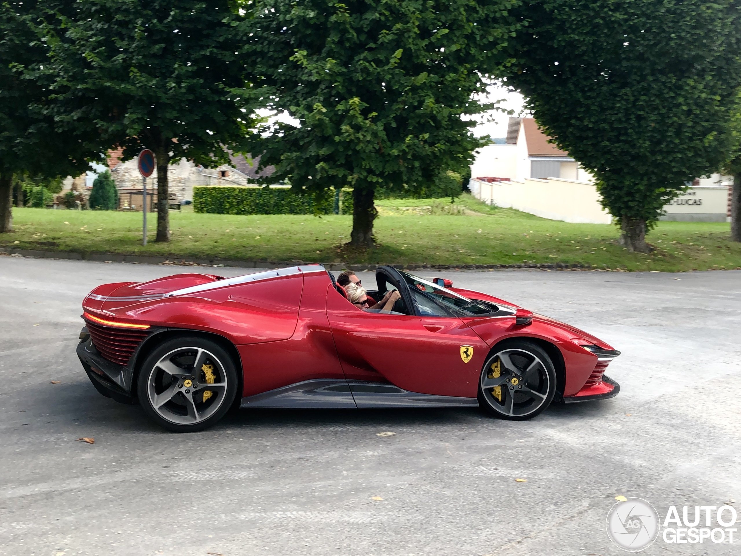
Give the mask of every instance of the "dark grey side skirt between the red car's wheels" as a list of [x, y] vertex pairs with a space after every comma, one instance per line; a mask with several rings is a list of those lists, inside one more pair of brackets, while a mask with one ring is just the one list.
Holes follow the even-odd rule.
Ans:
[[359, 380], [305, 380], [242, 398], [242, 408], [478, 407], [475, 397], [419, 394], [393, 384]]

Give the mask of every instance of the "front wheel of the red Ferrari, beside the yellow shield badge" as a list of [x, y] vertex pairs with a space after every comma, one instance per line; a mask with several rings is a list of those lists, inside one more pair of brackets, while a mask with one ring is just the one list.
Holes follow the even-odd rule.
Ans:
[[551, 405], [555, 394], [556, 371], [551, 358], [526, 340], [498, 345], [479, 380], [479, 405], [502, 419], [531, 419]]

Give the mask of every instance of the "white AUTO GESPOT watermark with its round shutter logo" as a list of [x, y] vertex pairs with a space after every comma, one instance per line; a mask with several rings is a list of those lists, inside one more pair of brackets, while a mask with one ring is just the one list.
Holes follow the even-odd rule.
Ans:
[[[608, 512], [607, 534], [619, 548], [640, 552], [659, 537], [665, 543], [733, 543], [736, 509], [723, 506], [669, 506], [663, 522], [659, 512], [642, 498], [617, 497]], [[681, 518], [680, 518], [681, 515]]]

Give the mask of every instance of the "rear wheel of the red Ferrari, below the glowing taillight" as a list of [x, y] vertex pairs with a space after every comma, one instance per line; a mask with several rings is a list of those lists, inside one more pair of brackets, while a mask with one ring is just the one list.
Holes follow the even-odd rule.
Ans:
[[144, 411], [170, 431], [202, 431], [224, 417], [236, 396], [236, 368], [227, 351], [200, 337], [159, 345], [144, 360], [137, 393]]

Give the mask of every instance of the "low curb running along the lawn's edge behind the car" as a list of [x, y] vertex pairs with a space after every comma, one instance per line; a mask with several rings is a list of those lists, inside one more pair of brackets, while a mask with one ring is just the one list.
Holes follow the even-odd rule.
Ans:
[[[0, 247], [0, 253], [8, 255], [20, 255], [21, 257], [34, 257], [39, 259], [71, 259], [81, 261], [100, 261], [100, 262], [130, 262], [139, 265], [173, 265], [173, 266], [233, 266], [242, 268], [280, 268], [285, 266], [297, 266], [314, 264], [305, 261], [235, 261], [230, 259], [183, 259], [182, 257], [150, 257], [148, 255], [122, 255], [115, 253], [76, 253], [73, 251], [34, 251], [30, 249], [13, 249]], [[321, 262], [330, 271], [368, 271], [375, 270], [379, 265], [346, 265], [342, 262]], [[543, 264], [543, 265], [391, 265], [393, 268], [402, 270], [414, 270], [418, 268], [428, 268], [439, 271], [458, 271], [458, 270], [499, 270], [507, 268], [535, 268], [541, 270], [568, 270], [568, 269], [591, 269], [588, 265], [565, 263]]]

